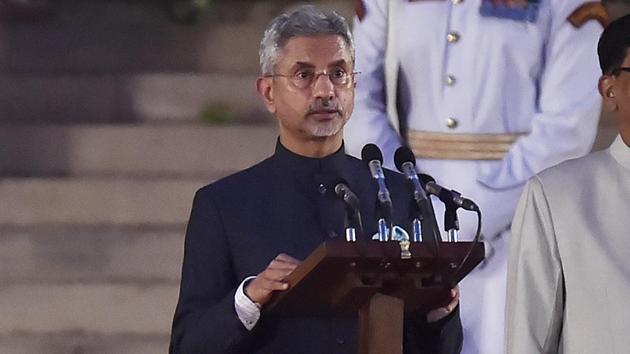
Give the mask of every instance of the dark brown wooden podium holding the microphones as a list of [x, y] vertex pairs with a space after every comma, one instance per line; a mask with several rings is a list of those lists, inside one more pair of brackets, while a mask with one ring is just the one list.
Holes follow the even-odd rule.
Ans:
[[[271, 316], [353, 316], [359, 354], [402, 354], [405, 311], [426, 313], [450, 301], [450, 289], [484, 258], [482, 243], [328, 241], [288, 277], [289, 289], [265, 305]], [[472, 247], [472, 251], [471, 251]], [[466, 254], [470, 255], [462, 264]]]

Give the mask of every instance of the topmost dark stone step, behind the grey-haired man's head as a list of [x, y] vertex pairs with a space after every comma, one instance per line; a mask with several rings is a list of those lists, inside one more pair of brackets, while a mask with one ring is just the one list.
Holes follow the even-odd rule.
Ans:
[[[46, 21], [3, 23], [0, 71], [119, 73], [259, 71], [264, 28], [294, 1], [214, 1], [197, 25], [171, 21], [163, 1], [58, 0]], [[350, 1], [317, 1], [352, 14]]]

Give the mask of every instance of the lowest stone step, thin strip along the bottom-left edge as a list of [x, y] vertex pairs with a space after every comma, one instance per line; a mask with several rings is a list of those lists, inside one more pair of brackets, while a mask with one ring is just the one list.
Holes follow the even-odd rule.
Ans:
[[168, 352], [168, 335], [20, 333], [0, 336], [3, 354], [156, 354]]

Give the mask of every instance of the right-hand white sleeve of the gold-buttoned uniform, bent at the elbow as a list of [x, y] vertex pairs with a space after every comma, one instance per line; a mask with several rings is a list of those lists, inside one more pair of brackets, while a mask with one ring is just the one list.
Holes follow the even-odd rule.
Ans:
[[576, 29], [567, 20], [583, 1], [551, 1], [551, 27], [538, 111], [531, 133], [519, 138], [500, 165], [482, 166], [479, 182], [495, 189], [518, 186], [534, 174], [590, 152], [601, 109], [597, 41], [602, 26]]

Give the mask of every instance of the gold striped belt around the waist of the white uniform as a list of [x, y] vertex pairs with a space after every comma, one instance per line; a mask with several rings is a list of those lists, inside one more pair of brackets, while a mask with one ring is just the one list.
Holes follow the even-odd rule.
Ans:
[[501, 160], [519, 134], [462, 134], [410, 130], [408, 143], [416, 157], [443, 160]]

